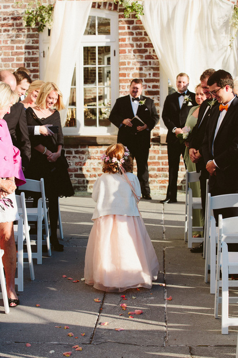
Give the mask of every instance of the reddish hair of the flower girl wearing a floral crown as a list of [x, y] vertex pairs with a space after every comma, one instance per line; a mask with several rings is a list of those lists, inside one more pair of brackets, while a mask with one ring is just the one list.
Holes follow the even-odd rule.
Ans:
[[[118, 163], [117, 162], [113, 163], [111, 159], [116, 158], [117, 160], [120, 161], [124, 157], [125, 152], [127, 151], [128, 149], [126, 149], [125, 146], [121, 143], [110, 145], [106, 150], [106, 157], [109, 157], [110, 160], [104, 161], [103, 173], [118, 173], [119, 172]], [[127, 159], [121, 165], [126, 172], [132, 172], [133, 160], [131, 156], [127, 157]]]

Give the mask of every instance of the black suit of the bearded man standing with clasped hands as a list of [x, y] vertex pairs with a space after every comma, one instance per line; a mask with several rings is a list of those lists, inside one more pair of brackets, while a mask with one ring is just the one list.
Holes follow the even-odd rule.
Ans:
[[167, 96], [164, 101], [162, 119], [168, 128], [166, 142], [168, 143], [168, 161], [169, 161], [169, 185], [167, 189], [166, 199], [177, 200], [177, 180], [180, 155], [184, 156], [185, 145], [180, 144], [180, 140], [176, 137], [172, 130], [176, 128], [183, 128], [187, 119], [188, 112], [191, 106], [196, 106], [195, 93], [187, 90], [186, 96], [189, 96], [192, 102], [185, 101], [180, 109], [178, 93], [172, 93]]

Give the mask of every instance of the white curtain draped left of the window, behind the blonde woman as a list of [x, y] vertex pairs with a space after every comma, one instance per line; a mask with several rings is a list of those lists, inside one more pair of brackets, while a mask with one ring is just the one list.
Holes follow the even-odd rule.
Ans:
[[[68, 106], [70, 86], [92, 1], [56, 1], [44, 81], [55, 82]], [[62, 125], [67, 111], [60, 113]]]

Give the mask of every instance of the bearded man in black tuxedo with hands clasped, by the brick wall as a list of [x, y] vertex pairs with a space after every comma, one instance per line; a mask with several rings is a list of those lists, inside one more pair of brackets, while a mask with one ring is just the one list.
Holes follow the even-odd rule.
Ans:
[[165, 99], [162, 119], [168, 128], [166, 142], [168, 144], [169, 161], [169, 185], [166, 198], [161, 203], [177, 202], [177, 180], [180, 156], [184, 156], [185, 145], [180, 143], [176, 137], [182, 132], [191, 106], [196, 106], [195, 93], [190, 92], [187, 87], [189, 77], [186, 73], [179, 73], [176, 79], [178, 92], [168, 95]]

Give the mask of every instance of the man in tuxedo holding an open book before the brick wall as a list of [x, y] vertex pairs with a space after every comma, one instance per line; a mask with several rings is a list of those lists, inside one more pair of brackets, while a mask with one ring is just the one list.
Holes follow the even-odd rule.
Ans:
[[[142, 96], [142, 81], [135, 78], [130, 83], [130, 94], [117, 98], [111, 110], [109, 120], [119, 129], [117, 142], [127, 146], [137, 165], [141, 194], [151, 200], [149, 186], [148, 157], [150, 133], [159, 121], [155, 103], [151, 98]], [[131, 129], [132, 118], [137, 115], [143, 123], [134, 133]]]

